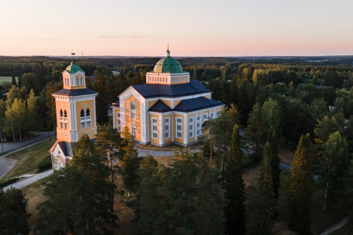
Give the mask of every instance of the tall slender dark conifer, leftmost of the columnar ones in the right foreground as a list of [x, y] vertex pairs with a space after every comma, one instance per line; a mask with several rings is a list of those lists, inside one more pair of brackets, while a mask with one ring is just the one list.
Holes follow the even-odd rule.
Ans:
[[246, 231], [242, 156], [239, 126], [235, 124], [225, 169], [225, 196], [228, 199], [228, 205], [225, 208], [225, 227], [228, 234], [245, 234]]

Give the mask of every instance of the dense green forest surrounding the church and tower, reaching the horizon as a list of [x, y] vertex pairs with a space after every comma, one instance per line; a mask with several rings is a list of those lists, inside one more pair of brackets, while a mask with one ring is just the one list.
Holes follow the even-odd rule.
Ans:
[[[119, 224], [112, 205], [120, 176], [125, 190], [136, 194], [131, 221], [135, 234], [273, 234], [282, 187], [281, 143], [295, 149], [286, 194], [288, 229], [313, 233], [315, 191], [322, 192], [322, 213], [336, 203], [344, 205], [345, 215], [352, 213], [353, 56], [177, 59], [225, 108], [205, 123], [210, 134], [202, 139], [200, 152], [175, 152], [166, 167], [150, 155], [137, 158], [133, 137], [124, 133], [123, 138], [108, 115], [110, 104], [124, 90], [145, 83], [158, 58], [74, 58], [86, 72], [87, 87], [99, 94], [98, 135], [94, 144], [87, 136], [81, 138], [70, 167], [50, 177], [44, 194], [55, 200], [38, 205], [36, 233], [111, 232]], [[6, 101], [0, 97], [0, 125], [11, 141], [27, 138], [29, 131], [55, 130], [51, 94], [63, 88], [61, 72], [70, 60], [0, 57], [0, 76], [13, 77], [12, 82], [0, 82], [0, 96], [7, 93]], [[107, 158], [107, 152], [115, 160]], [[258, 180], [254, 197], [245, 205], [243, 172], [254, 166], [259, 168]], [[0, 198], [12, 195], [23, 197], [6, 191]], [[63, 200], [66, 195], [70, 200]], [[20, 201], [22, 207], [27, 203]], [[8, 207], [0, 204], [0, 212]], [[254, 211], [251, 218], [245, 216], [246, 207]], [[26, 226], [18, 228], [28, 232]]]

